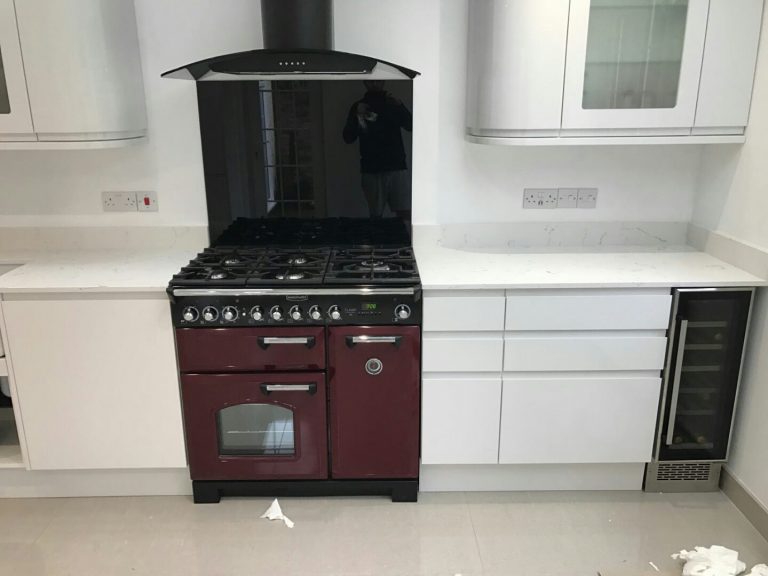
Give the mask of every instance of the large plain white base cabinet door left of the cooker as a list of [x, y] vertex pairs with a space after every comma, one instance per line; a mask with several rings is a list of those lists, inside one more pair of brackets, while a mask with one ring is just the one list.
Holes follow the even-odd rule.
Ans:
[[186, 466], [167, 299], [54, 298], [2, 303], [29, 467]]

